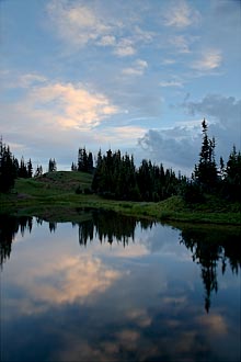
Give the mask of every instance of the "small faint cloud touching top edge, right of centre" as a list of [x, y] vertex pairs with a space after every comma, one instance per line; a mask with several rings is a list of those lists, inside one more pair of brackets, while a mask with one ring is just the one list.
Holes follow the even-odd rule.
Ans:
[[200, 14], [185, 1], [174, 1], [164, 14], [164, 25], [184, 29], [200, 21]]

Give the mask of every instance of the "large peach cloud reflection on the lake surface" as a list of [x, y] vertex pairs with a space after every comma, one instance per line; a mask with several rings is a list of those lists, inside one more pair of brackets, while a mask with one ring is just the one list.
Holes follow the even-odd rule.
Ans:
[[[27, 293], [26, 298], [20, 303], [18, 301], [18, 313], [31, 315], [45, 312], [49, 305], [91, 302], [122, 278], [119, 271], [103, 264], [100, 258], [87, 254], [59, 257], [58, 262], [54, 263], [51, 258], [46, 258], [44, 265], [41, 265], [41, 275], [39, 265], [35, 263], [35, 267], [28, 267], [31, 273], [26, 268], [14, 281]], [[56, 282], [53, 283], [53, 280]], [[11, 302], [13, 306], [14, 302]]]

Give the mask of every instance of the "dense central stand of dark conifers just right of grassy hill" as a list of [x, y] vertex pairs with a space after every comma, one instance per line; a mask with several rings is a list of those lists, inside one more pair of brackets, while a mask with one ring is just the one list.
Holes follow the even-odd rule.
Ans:
[[110, 149], [105, 155], [99, 151], [92, 190], [110, 199], [133, 201], [160, 201], [175, 193], [182, 182], [171, 169], [142, 160], [135, 167], [134, 157]]

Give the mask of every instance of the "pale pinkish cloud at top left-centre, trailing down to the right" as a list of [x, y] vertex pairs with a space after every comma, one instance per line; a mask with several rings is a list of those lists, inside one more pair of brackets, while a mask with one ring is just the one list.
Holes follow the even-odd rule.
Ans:
[[[126, 57], [136, 54], [135, 44], [150, 42], [152, 33], [142, 31], [139, 26], [126, 26], [117, 16], [108, 16], [106, 12], [94, 11], [91, 7], [81, 3], [69, 3], [65, 0], [51, 0], [47, 5], [53, 29], [67, 46], [81, 48], [89, 44], [102, 47], [113, 47], [113, 54]], [[131, 29], [131, 32], [130, 32]], [[129, 32], [129, 36], [126, 36]], [[125, 34], [124, 34], [125, 33]]]

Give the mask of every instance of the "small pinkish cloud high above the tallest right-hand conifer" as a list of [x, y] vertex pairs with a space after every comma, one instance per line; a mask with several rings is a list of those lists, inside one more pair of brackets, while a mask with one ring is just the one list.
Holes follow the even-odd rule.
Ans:
[[217, 49], [210, 49], [205, 50], [198, 60], [193, 61], [191, 67], [200, 71], [209, 71], [220, 67], [221, 61], [221, 53]]

